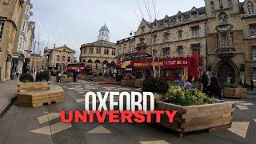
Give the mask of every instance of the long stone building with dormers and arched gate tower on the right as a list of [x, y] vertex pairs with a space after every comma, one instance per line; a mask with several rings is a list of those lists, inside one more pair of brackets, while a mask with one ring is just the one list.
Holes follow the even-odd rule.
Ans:
[[200, 70], [210, 70], [220, 82], [230, 77], [234, 82], [256, 84], [256, 2], [205, 3], [154, 22], [142, 19], [134, 35], [135, 51], [167, 58], [198, 51]]

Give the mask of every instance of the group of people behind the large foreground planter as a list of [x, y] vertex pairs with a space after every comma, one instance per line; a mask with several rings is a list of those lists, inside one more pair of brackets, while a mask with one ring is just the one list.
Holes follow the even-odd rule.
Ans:
[[[180, 84], [182, 79], [178, 80]], [[186, 90], [190, 90], [192, 88], [193, 77], [189, 77], [186, 82], [184, 82], [184, 88]], [[202, 83], [202, 92], [208, 94], [210, 97], [215, 97], [218, 99], [222, 99], [222, 88], [219, 86], [218, 78], [211, 77], [209, 82], [209, 77], [207, 72], [202, 74], [200, 83]]]

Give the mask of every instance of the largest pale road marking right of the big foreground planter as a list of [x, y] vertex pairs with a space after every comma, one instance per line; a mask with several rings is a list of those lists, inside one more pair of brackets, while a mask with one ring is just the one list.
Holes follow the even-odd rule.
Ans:
[[246, 138], [249, 124], [250, 122], [232, 122], [232, 126], [228, 130], [242, 138]]

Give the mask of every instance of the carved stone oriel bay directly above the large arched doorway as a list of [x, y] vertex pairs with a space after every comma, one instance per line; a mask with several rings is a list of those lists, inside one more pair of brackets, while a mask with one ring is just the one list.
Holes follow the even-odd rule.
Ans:
[[234, 57], [236, 50], [234, 48], [233, 39], [230, 39], [230, 41], [228, 41], [226, 39], [222, 39], [218, 43], [218, 48], [216, 49], [216, 52], [217, 52], [219, 58]]

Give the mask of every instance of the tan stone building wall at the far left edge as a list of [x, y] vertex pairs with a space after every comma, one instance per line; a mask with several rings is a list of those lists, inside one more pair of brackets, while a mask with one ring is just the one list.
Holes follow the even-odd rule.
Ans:
[[0, 1], [0, 81], [10, 80], [15, 38], [24, 0]]

